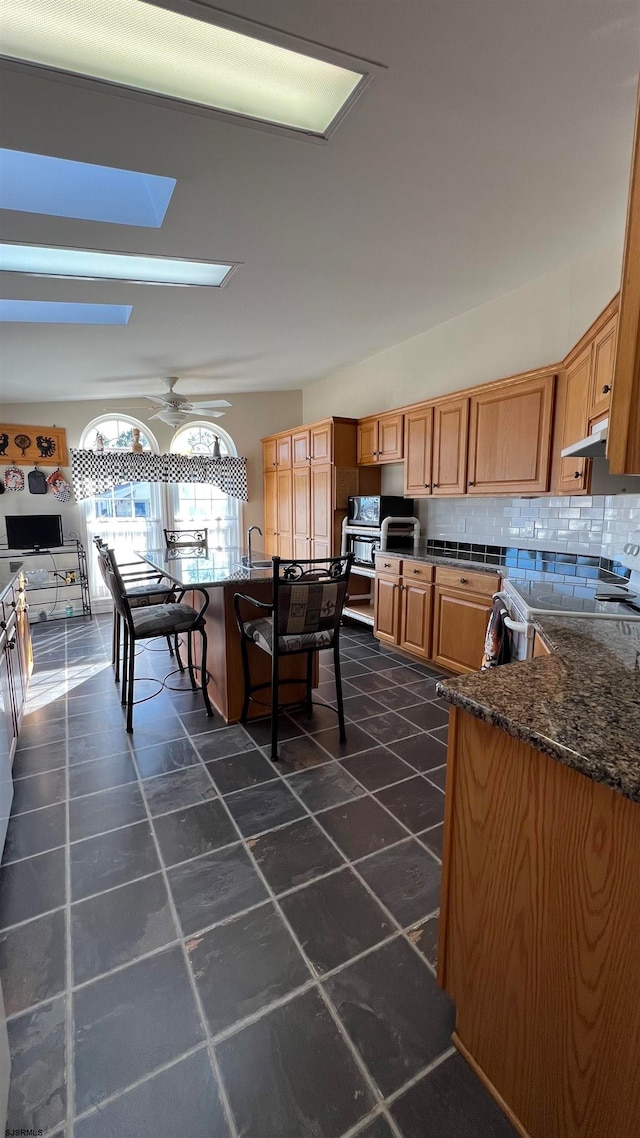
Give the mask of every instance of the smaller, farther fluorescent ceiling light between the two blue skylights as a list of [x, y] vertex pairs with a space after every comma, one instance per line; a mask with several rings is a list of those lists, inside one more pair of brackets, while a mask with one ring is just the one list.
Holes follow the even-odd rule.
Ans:
[[205, 284], [220, 288], [235, 265], [172, 261], [137, 253], [59, 249], [49, 245], [1, 245], [0, 272], [79, 280], [132, 281], [137, 284]]

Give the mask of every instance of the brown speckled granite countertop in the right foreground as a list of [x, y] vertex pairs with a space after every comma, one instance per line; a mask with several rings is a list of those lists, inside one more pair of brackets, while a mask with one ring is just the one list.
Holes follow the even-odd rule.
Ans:
[[640, 802], [640, 621], [544, 617], [550, 655], [437, 685], [443, 699]]

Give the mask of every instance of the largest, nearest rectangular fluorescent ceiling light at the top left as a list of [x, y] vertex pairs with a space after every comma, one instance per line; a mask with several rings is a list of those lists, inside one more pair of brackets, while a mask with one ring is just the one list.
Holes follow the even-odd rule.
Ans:
[[182, 7], [196, 17], [141, 0], [5, 0], [2, 55], [320, 135], [366, 81]]

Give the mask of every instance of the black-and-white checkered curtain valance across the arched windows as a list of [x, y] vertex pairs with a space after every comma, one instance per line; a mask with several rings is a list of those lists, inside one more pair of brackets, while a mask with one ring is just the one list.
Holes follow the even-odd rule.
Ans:
[[95, 497], [123, 483], [211, 483], [231, 497], [248, 501], [247, 460], [206, 454], [133, 454], [130, 451], [71, 452], [76, 498]]

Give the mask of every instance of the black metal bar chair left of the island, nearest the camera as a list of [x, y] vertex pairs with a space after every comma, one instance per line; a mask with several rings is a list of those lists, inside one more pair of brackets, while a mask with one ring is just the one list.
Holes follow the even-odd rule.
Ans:
[[[122, 620], [124, 628], [123, 659], [122, 659], [122, 703], [126, 702], [126, 729], [133, 731], [133, 682], [136, 671], [136, 643], [141, 640], [151, 640], [155, 636], [187, 636], [187, 667], [194, 691], [197, 688], [196, 670], [200, 673], [200, 687], [205, 702], [206, 714], [213, 715], [213, 709], [207, 691], [206, 650], [207, 637], [204, 615], [208, 605], [208, 596], [204, 589], [202, 592], [204, 601], [198, 610], [190, 604], [180, 604], [167, 601], [162, 604], [147, 604], [132, 607], [130, 597], [122, 579], [113, 550], [102, 546], [98, 550], [98, 564], [105, 585], [107, 586], [114, 602], [114, 608]], [[198, 632], [202, 636], [203, 651], [199, 668], [194, 665], [192, 635]]]

